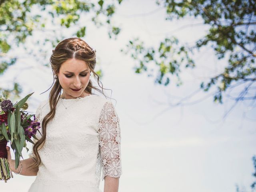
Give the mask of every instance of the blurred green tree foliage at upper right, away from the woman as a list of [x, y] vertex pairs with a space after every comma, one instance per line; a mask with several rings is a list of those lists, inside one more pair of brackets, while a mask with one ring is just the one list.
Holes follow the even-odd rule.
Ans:
[[[248, 89], [256, 80], [256, 4], [252, 0], [158, 0], [159, 6], [166, 8], [166, 20], [181, 19], [186, 16], [202, 18], [210, 26], [203, 38], [193, 46], [179, 44], [178, 39], [168, 36], [160, 41], [158, 49], [144, 46], [138, 38], [130, 40], [126, 52], [138, 62], [136, 73], [157, 73], [156, 83], [167, 86], [173, 75], [181, 84], [181, 68], [194, 68], [193, 51], [210, 45], [218, 59], [229, 57], [228, 66], [222, 73], [202, 82], [200, 87], [208, 91], [216, 86], [214, 101], [222, 103], [222, 93], [232, 88], [232, 83], [244, 83], [246, 88], [235, 100], [256, 99], [256, 95], [246, 97]], [[150, 64], [156, 66], [149, 70]]]

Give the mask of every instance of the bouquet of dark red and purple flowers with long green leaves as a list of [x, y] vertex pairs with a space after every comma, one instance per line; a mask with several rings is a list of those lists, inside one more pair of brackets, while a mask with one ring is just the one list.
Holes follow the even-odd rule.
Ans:
[[0, 97], [0, 180], [4, 180], [5, 182], [10, 177], [13, 178], [10, 165], [7, 161], [7, 142], [11, 142], [11, 148], [14, 150], [15, 169], [17, 169], [20, 163], [20, 157], [22, 157], [22, 149], [25, 147], [28, 152], [25, 141], [34, 144], [31, 137], [38, 140], [36, 138], [36, 132], [39, 131], [40, 122], [36, 122], [34, 114], [29, 115], [25, 111], [28, 108], [26, 100], [33, 93], [28, 94], [14, 105], [4, 94]]

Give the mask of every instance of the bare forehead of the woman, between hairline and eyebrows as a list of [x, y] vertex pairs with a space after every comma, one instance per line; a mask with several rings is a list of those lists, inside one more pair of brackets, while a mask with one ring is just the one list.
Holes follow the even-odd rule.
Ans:
[[60, 71], [80, 72], [86, 69], [89, 69], [86, 62], [75, 58], [66, 60], [60, 66]]

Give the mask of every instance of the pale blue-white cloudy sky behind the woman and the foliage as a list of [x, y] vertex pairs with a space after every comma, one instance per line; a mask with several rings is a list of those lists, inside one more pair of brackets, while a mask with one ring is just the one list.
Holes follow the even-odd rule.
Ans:
[[[113, 18], [122, 28], [116, 40], [108, 38], [106, 28], [86, 23], [83, 39], [97, 50], [97, 67], [104, 72], [102, 83], [112, 89], [112, 98], [117, 101], [123, 171], [119, 191], [235, 192], [236, 184], [250, 191], [254, 181], [252, 156], [256, 155], [255, 108], [250, 102], [238, 103], [223, 119], [234, 102], [224, 97], [223, 104], [216, 104], [213, 90], [199, 89], [200, 82], [223, 70], [226, 60], [218, 60], [210, 47], [204, 48], [194, 55], [196, 68], [182, 71], [182, 86], [176, 87], [173, 78], [173, 83], [164, 87], [146, 74], [135, 74], [136, 62], [120, 52], [135, 37], [154, 47], [172, 35], [192, 44], [208, 29], [200, 19], [170, 22], [164, 17], [164, 9], [153, 0], [124, 0]], [[81, 23], [87, 21], [84, 18]], [[71, 31], [62, 33], [68, 38]], [[38, 48], [33, 38], [28, 38], [28, 44]], [[44, 62], [48, 62], [52, 49], [49, 47]], [[22, 56], [24, 50], [12, 54]], [[29, 100], [32, 112], [48, 98], [49, 91], [40, 93], [51, 86], [52, 71], [32, 56], [21, 57], [0, 76], [1, 86], [11, 86], [14, 78], [23, 85], [22, 96], [35, 92]], [[176, 105], [194, 92], [193, 97], [184, 100], [187, 104]], [[28, 158], [26, 150], [22, 154]], [[0, 188], [26, 192], [35, 178], [14, 174]], [[103, 186], [101, 181], [102, 191]]]

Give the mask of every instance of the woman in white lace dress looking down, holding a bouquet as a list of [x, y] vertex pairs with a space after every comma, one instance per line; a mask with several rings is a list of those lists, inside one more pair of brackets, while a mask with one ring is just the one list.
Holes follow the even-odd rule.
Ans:
[[[117, 192], [122, 174], [119, 118], [112, 102], [92, 94], [93, 89], [104, 94], [94, 72], [96, 51], [80, 38], [68, 38], [52, 52], [56, 81], [49, 100], [36, 110], [42, 136], [37, 132], [40, 139], [34, 140], [30, 158], [17, 169], [7, 147], [10, 168], [36, 176], [28, 192], [100, 192], [101, 169], [104, 192]], [[92, 86], [91, 73], [102, 91]]]

